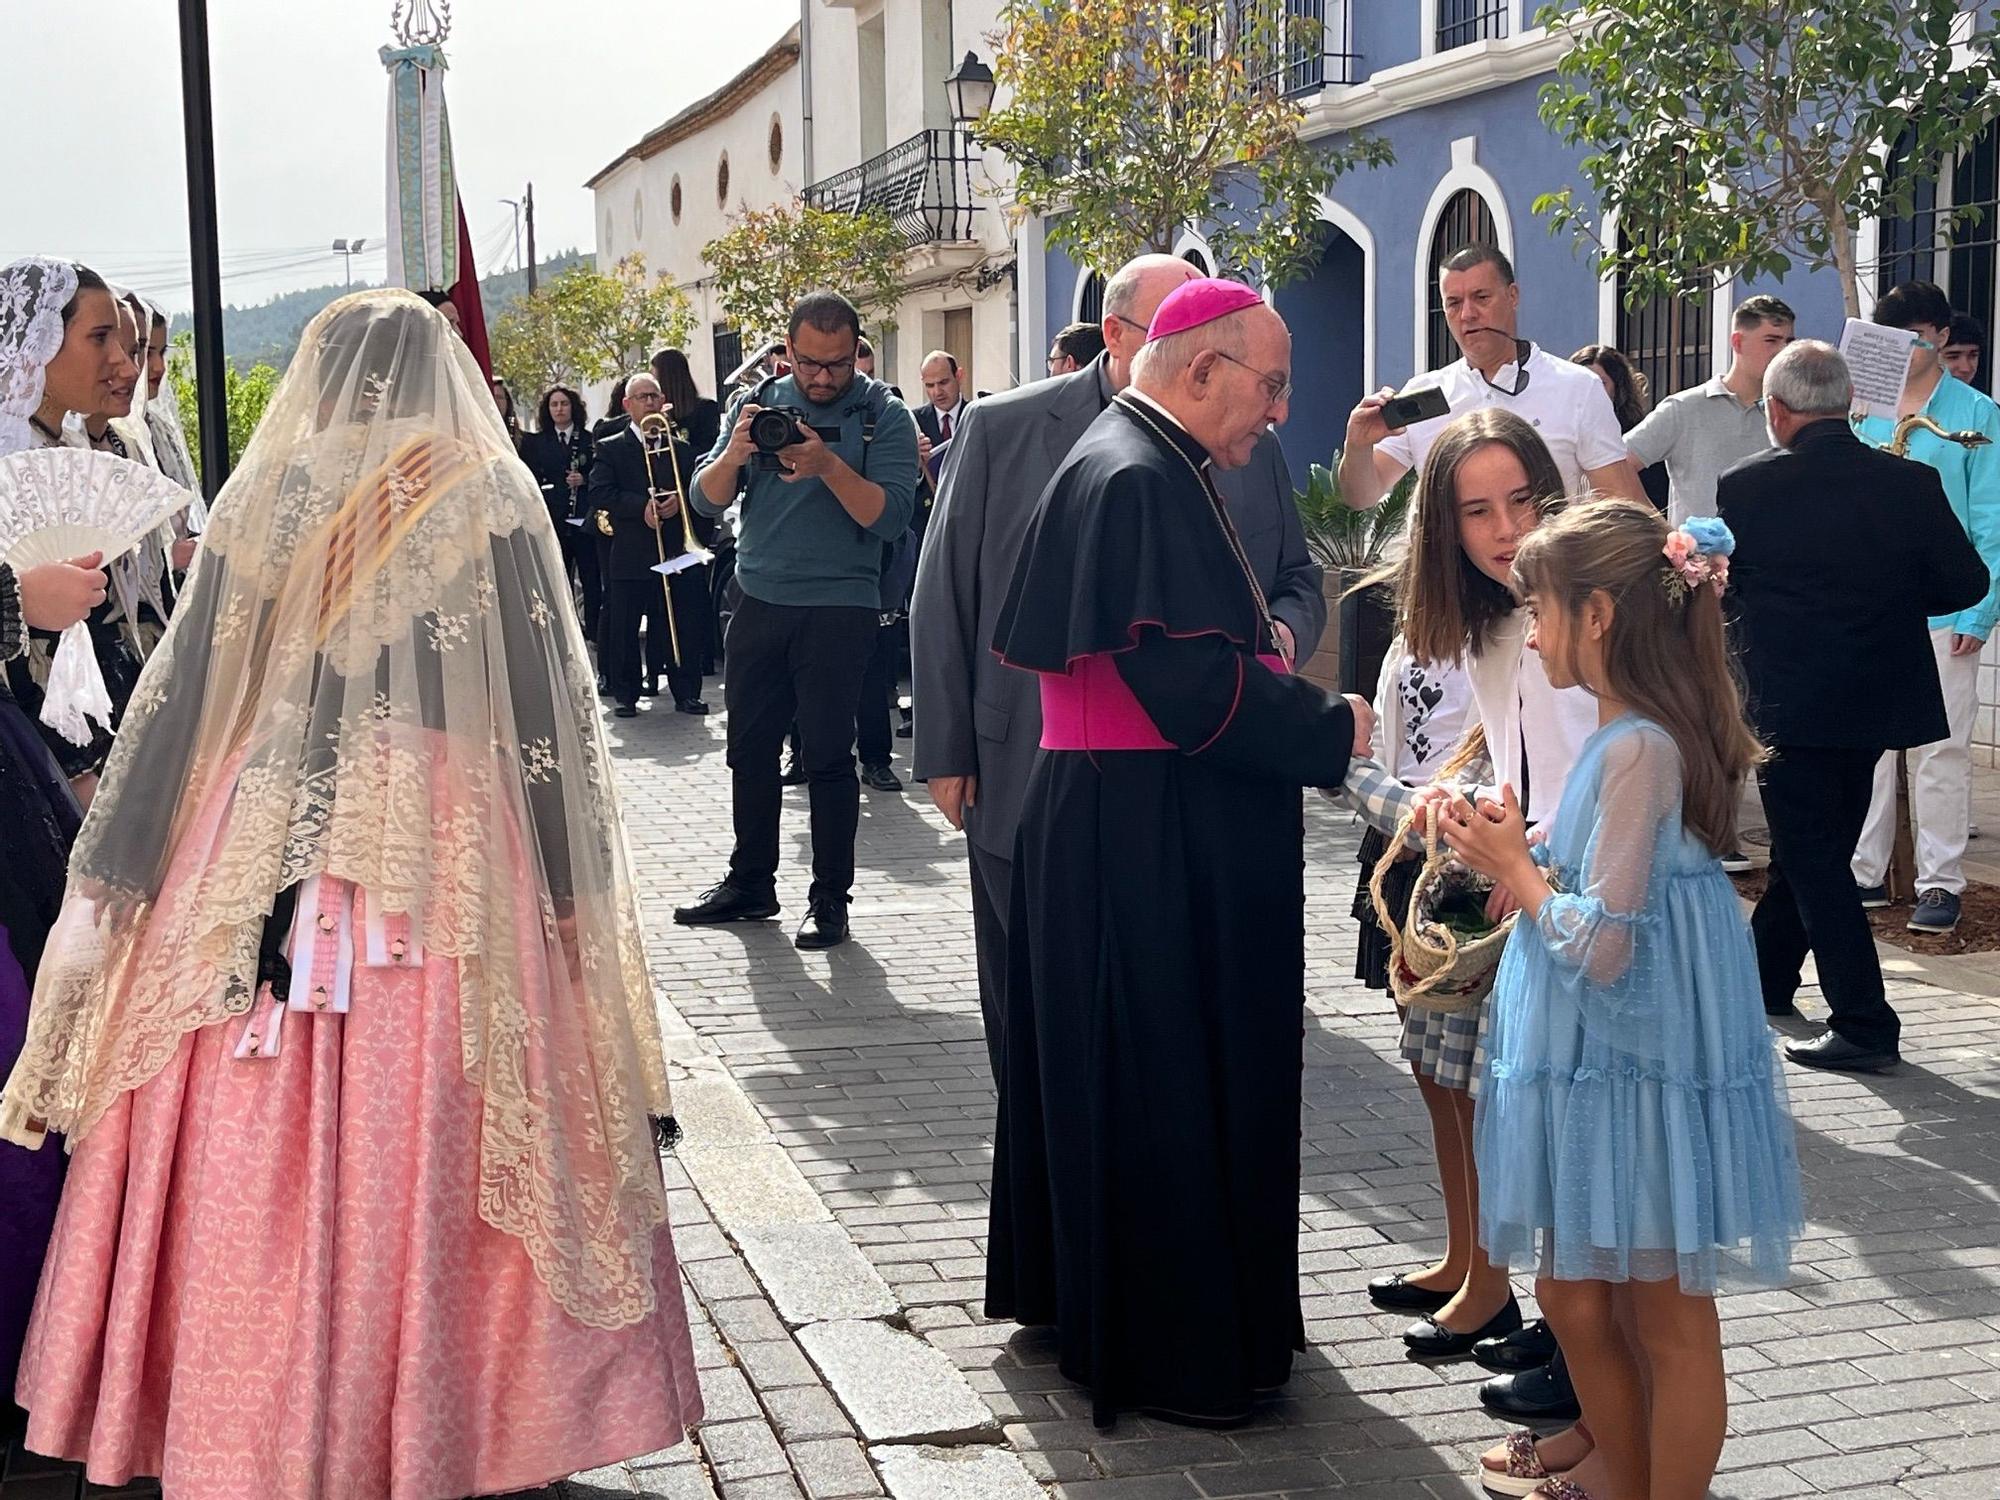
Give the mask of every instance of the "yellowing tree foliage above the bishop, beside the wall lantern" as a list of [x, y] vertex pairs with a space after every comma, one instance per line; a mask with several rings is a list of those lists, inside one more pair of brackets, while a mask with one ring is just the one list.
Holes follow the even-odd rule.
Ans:
[[1276, 286], [1320, 264], [1320, 196], [1388, 142], [1298, 138], [1286, 84], [1322, 56], [1296, 0], [1006, 0], [978, 140], [1014, 166], [1048, 238], [1112, 268], [1206, 228], [1220, 270]]

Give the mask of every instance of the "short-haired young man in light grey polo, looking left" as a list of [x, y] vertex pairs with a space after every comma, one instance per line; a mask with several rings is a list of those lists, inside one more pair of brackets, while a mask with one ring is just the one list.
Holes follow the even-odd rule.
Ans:
[[1674, 392], [1626, 434], [1640, 468], [1666, 464], [1668, 518], [1716, 514], [1722, 470], [1770, 448], [1764, 370], [1792, 342], [1798, 316], [1774, 296], [1746, 298], [1730, 318], [1730, 368]]

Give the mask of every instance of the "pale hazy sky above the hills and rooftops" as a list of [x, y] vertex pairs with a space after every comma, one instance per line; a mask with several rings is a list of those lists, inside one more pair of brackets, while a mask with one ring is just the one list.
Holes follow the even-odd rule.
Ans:
[[[0, 0], [0, 264], [82, 260], [192, 302], [176, 0]], [[480, 274], [514, 264], [534, 182], [536, 250], [592, 250], [584, 180], [726, 82], [798, 0], [578, 6], [458, 0], [444, 44], [458, 190]], [[390, 0], [208, 0], [222, 300], [342, 280], [336, 238], [384, 274]]]

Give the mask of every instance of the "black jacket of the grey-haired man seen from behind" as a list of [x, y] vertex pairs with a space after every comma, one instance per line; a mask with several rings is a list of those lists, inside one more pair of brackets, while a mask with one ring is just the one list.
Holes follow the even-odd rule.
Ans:
[[1946, 736], [1928, 618], [1992, 578], [1936, 470], [1840, 418], [1746, 458], [1716, 486], [1736, 532], [1730, 600], [1766, 744], [1902, 750]]

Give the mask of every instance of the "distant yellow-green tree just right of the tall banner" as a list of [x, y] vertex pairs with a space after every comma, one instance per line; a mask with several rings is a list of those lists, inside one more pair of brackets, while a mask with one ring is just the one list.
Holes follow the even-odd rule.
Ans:
[[494, 368], [532, 406], [550, 386], [630, 374], [692, 332], [688, 294], [666, 274], [648, 280], [646, 258], [632, 254], [608, 276], [572, 266], [520, 298], [494, 324]]

